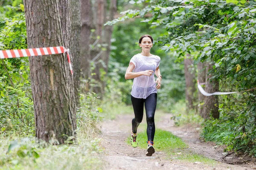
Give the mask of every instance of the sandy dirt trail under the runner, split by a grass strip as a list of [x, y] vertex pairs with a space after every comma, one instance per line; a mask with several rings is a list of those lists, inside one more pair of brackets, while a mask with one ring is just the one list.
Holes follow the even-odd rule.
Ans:
[[[171, 131], [173, 134], [180, 136], [187, 144], [189, 144], [189, 149], [196, 153], [203, 154], [215, 160], [223, 157], [223, 155], [219, 155], [222, 152], [220, 151], [220, 147], [217, 147], [216, 149], [216, 147], [209, 143], [200, 142], [197, 132], [198, 130], [174, 127], [174, 122], [171, 121], [170, 116], [171, 114], [163, 114], [158, 117], [156, 127]], [[118, 115], [115, 120], [102, 122], [102, 146], [105, 147], [104, 158], [106, 161], [106, 170], [252, 170], [252, 167], [254, 167], [251, 164], [244, 166], [217, 162], [213, 166], [176, 159], [167, 160], [166, 154], [158, 151], [151, 157], [145, 156], [146, 150], [142, 150], [139, 147], [133, 148], [126, 143], [126, 139], [131, 132], [132, 118], [133, 114]], [[143, 118], [142, 123], [145, 123], [145, 118]], [[138, 134], [140, 134], [142, 130], [143, 127], [139, 126]], [[139, 145], [140, 144], [144, 143], [139, 141]], [[216, 153], [214, 153], [214, 150], [218, 151], [215, 151]]]

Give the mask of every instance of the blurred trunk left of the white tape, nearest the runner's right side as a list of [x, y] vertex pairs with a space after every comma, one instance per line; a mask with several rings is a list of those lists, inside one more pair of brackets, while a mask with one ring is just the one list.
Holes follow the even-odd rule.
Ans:
[[184, 59], [184, 69], [185, 69], [185, 79], [186, 79], [186, 110], [195, 109], [195, 69], [192, 59], [188, 58], [190, 55], [187, 55], [187, 58]]

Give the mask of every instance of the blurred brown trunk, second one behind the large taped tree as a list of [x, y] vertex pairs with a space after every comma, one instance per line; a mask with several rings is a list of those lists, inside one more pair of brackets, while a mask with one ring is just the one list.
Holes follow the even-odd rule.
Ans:
[[[80, 34], [80, 47], [81, 47], [81, 73], [84, 79], [90, 77], [90, 40], [91, 29], [95, 29], [93, 23], [93, 10], [90, 0], [81, 0], [81, 34]], [[86, 90], [89, 89], [87, 83]]]

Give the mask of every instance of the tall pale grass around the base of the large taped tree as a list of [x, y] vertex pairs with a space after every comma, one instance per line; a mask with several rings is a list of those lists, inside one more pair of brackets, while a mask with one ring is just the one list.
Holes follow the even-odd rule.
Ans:
[[53, 145], [35, 139], [22, 138], [19, 133], [0, 134], [0, 170], [78, 170], [102, 169], [102, 148], [97, 139], [99, 111], [96, 94], [81, 95], [77, 111], [76, 144]]

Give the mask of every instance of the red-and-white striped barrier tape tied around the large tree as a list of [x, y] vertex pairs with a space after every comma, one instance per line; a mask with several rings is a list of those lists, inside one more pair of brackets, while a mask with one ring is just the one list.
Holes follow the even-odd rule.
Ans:
[[0, 50], [0, 59], [44, 56], [44, 55], [50, 55], [50, 54], [63, 54], [63, 53], [67, 53], [67, 61], [69, 63], [71, 74], [73, 75], [72, 65], [71, 65], [70, 56], [69, 56], [69, 50], [63, 46], [29, 48], [29, 49], [22, 49], [22, 50]]

